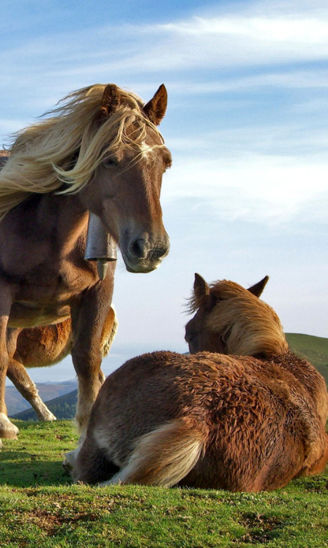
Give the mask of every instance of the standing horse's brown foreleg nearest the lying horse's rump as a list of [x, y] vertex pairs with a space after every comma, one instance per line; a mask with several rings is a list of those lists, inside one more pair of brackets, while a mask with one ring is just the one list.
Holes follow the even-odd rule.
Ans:
[[[109, 271], [110, 273], [110, 271]], [[85, 439], [87, 421], [100, 387], [105, 380], [102, 362], [102, 331], [111, 307], [113, 278], [109, 276], [86, 292], [77, 308], [72, 308], [72, 362], [77, 372], [79, 397], [75, 421]]]

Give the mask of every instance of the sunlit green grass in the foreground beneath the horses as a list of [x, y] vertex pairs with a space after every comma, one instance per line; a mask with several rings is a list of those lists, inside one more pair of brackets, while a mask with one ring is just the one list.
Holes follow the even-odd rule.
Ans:
[[70, 421], [26, 423], [0, 453], [0, 546], [328, 546], [328, 474], [271, 493], [72, 485], [61, 468]]

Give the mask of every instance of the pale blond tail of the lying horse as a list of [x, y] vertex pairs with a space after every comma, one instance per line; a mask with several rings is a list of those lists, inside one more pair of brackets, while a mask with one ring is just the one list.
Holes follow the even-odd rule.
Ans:
[[204, 445], [204, 434], [190, 419], [170, 421], [141, 436], [127, 466], [108, 483], [171, 487], [193, 469]]

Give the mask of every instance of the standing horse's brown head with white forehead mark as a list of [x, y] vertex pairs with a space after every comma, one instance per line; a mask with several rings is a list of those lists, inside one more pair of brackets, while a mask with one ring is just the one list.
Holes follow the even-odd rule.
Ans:
[[156, 269], [169, 251], [160, 194], [172, 159], [156, 129], [166, 106], [163, 85], [146, 105], [114, 84], [106, 86], [98, 112], [99, 161], [79, 192], [83, 205], [118, 242], [130, 272]]

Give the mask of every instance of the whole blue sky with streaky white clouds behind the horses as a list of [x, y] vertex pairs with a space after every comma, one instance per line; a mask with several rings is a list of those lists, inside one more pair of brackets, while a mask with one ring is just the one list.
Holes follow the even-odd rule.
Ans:
[[[312, 1], [3, 0], [0, 141], [68, 92], [115, 82], [145, 101], [165, 83], [173, 166], [158, 271], [120, 260], [109, 373], [154, 349], [187, 351], [195, 272], [249, 286], [287, 332], [328, 336], [328, 8]], [[68, 379], [64, 363], [31, 370]]]

